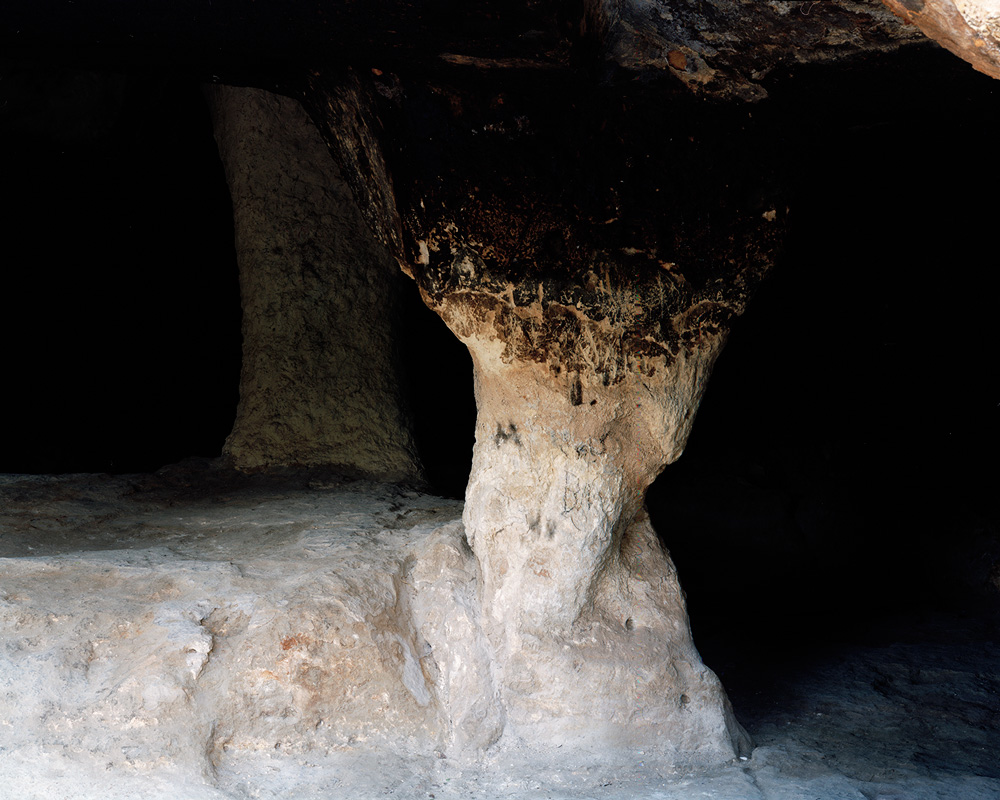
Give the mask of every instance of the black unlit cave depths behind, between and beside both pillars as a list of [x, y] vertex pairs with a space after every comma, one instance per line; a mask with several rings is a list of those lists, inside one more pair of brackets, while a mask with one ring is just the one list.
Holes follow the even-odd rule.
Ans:
[[[269, 89], [285, 78], [272, 69], [285, 67], [240, 65]], [[0, 63], [0, 472], [219, 459], [241, 311], [212, 80], [184, 57], [58, 43]], [[760, 120], [787, 237], [683, 457], [647, 495], [737, 716], [772, 662], [901, 620], [918, 638], [942, 617], [993, 625], [1000, 590], [1000, 90], [931, 43], [783, 66], [763, 85], [767, 99], [710, 115]], [[414, 283], [398, 284], [423, 487], [461, 498], [472, 365]]]

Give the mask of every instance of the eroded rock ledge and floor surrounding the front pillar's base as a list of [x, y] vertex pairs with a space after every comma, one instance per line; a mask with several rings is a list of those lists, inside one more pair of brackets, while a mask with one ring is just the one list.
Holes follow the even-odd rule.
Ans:
[[[465, 757], [498, 729], [488, 720], [504, 720], [483, 691], [492, 648], [460, 512], [321, 476], [0, 477], [0, 796], [987, 800], [1000, 790], [995, 636], [953, 620], [930, 639], [892, 631], [894, 643], [835, 656], [762, 646], [747, 623], [723, 668], [760, 745], [749, 758], [683, 767], [607, 737], [556, 755], [510, 737]], [[618, 646], [645, 635], [634, 622], [631, 645]], [[617, 671], [602, 672], [610, 643], [585, 645], [585, 669], [614, 681]], [[550, 655], [575, 657], [566, 653]], [[661, 655], [676, 659], [676, 645]], [[585, 690], [581, 680], [549, 696]]]

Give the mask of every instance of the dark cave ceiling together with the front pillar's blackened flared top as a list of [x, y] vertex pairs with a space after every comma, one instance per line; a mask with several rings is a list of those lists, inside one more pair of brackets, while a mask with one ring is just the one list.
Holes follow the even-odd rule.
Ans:
[[[784, 122], [754, 111], [770, 77], [936, 48], [921, 29], [988, 72], [995, 20], [967, 6], [66, 0], [8, 6], [0, 47], [7, 65], [169, 68], [295, 97], [439, 313], [463, 292], [484, 314], [554, 303], [669, 353], [743, 311], [783, 238]], [[571, 335], [567, 319], [504, 335], [527, 351]]]

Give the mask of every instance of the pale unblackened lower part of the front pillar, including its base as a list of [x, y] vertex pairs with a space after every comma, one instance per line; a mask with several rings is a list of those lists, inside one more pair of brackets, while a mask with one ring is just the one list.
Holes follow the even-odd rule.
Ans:
[[506, 733], [679, 762], [748, 751], [643, 505], [683, 450], [724, 332], [636, 357], [626, 331], [558, 303], [471, 292], [436, 308], [475, 365], [463, 521]]

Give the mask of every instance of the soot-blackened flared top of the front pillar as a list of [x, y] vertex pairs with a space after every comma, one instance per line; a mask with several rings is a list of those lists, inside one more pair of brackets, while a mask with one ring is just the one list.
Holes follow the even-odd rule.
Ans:
[[780, 239], [771, 145], [745, 112], [697, 116], [684, 95], [374, 70], [314, 75], [306, 104], [428, 304], [460, 296], [509, 356], [573, 372], [584, 318], [638, 358], [721, 333]]

